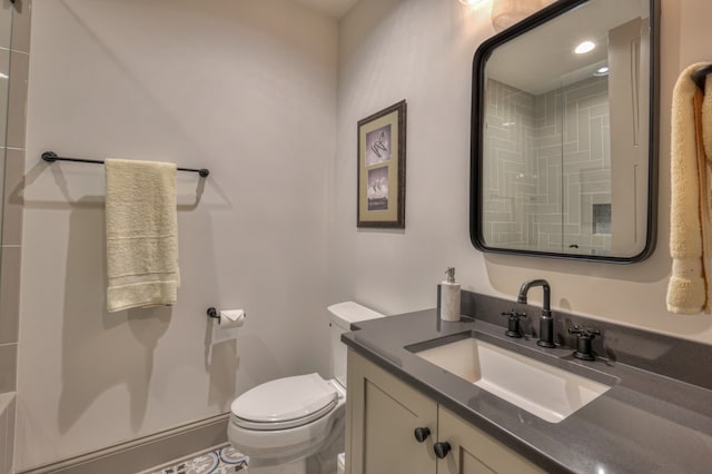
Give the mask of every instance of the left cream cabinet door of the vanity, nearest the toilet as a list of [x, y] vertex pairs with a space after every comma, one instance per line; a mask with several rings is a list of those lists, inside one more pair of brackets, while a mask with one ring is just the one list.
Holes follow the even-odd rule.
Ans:
[[435, 474], [437, 404], [350, 349], [347, 376], [346, 472]]

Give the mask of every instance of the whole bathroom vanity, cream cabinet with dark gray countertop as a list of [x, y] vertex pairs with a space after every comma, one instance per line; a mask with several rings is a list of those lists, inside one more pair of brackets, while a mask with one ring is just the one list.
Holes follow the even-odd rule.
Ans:
[[[479, 300], [485, 310], [492, 303], [487, 299], [496, 298]], [[610, 358], [580, 361], [572, 347], [543, 348], [534, 337], [505, 336], [506, 320], [496, 317], [503, 323], [483, 318], [444, 323], [432, 309], [358, 324], [357, 330], [343, 336], [349, 347], [347, 473], [710, 472], [712, 388], [690, 383], [694, 375], [685, 375], [683, 368], [680, 378], [689, 379], [682, 382], [671, 373], [656, 374]], [[604, 346], [625, 343], [631, 337], [625, 330], [605, 327], [601, 339], [610, 339], [597, 346], [599, 355], [610, 355]], [[664, 366], [662, 358], [670, 361], [681, 349], [666, 344], [664, 336], [655, 337], [660, 336], [637, 346], [644, 357], [657, 354]], [[472, 357], [466, 354], [474, 349], [456, 347], [476, 347], [471, 339], [502, 352], [506, 359], [521, 358], [521, 376], [516, 367], [487, 375], [490, 356], [472, 353], [483, 372], [469, 378]], [[682, 346], [683, 352], [710, 361], [706, 346], [689, 342]], [[444, 355], [431, 355], [441, 349]], [[527, 368], [530, 363], [551, 367], [554, 378], [542, 378], [546, 376], [537, 372], [541, 368]], [[497, 374], [506, 371], [514, 372], [497, 381]], [[566, 374], [604, 389], [591, 395], [589, 387], [573, 388]], [[523, 392], [505, 399], [483, 383], [487, 377], [505, 388], [514, 381], [508, 388]], [[556, 402], [548, 406], [541, 399], [553, 415], [536, 413], [527, 403], [541, 387], [551, 389], [546, 397], [568, 401], [573, 408], [558, 411]], [[581, 404], [580, 398], [589, 395]]]

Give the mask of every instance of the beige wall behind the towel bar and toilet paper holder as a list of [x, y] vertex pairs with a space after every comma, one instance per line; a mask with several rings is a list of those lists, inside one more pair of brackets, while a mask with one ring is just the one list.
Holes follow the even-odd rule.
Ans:
[[[284, 0], [34, 2], [16, 468], [327, 373], [336, 45], [336, 21]], [[106, 313], [103, 170], [48, 149], [210, 169], [178, 178], [177, 305]], [[248, 319], [208, 350], [212, 305]]]

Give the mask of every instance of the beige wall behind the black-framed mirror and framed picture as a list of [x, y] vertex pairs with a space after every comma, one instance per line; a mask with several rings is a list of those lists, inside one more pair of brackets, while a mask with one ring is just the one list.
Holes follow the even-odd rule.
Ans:
[[[670, 103], [686, 65], [711, 59], [706, 0], [662, 1], [659, 238], [654, 255], [617, 266], [484, 256], [468, 237], [472, 59], [493, 30], [491, 2], [363, 0], [339, 24], [338, 148], [332, 169], [330, 296], [385, 313], [435, 306], [447, 266], [463, 287], [515, 299], [530, 278], [552, 284], [555, 308], [712, 344], [712, 318], [665, 309], [670, 274]], [[404, 231], [356, 229], [356, 122], [406, 99]], [[541, 296], [536, 295], [538, 300]]]

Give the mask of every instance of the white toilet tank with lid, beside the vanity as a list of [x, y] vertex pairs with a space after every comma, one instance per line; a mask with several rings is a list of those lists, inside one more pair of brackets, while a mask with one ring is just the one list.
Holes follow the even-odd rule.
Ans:
[[332, 333], [332, 376], [346, 386], [346, 345], [342, 334], [348, 333], [353, 323], [384, 317], [354, 302], [337, 303], [328, 307]]

